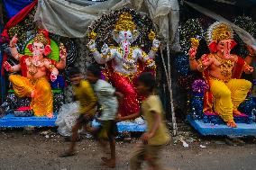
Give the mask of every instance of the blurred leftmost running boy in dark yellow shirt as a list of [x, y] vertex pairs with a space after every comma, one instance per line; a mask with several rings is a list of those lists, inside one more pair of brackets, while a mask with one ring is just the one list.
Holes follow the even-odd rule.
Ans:
[[96, 95], [92, 86], [78, 68], [73, 67], [69, 71], [69, 79], [73, 86], [73, 92], [79, 102], [79, 117], [76, 124], [72, 128], [71, 144], [68, 151], [65, 151], [59, 157], [71, 157], [75, 155], [75, 146], [78, 139], [78, 130], [83, 126], [87, 126], [90, 121], [93, 121], [96, 114]]

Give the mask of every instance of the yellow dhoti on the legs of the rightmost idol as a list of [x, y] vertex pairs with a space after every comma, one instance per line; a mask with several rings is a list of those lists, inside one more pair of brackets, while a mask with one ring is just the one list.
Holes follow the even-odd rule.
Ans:
[[222, 119], [227, 121], [233, 120], [233, 111], [236, 111], [242, 103], [249, 90], [251, 82], [244, 79], [231, 79], [227, 83], [221, 80], [210, 80], [211, 92], [214, 95], [214, 110]]

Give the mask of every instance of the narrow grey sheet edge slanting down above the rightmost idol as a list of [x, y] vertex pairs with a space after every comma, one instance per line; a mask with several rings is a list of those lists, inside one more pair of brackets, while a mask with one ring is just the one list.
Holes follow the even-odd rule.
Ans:
[[188, 4], [189, 6], [191, 6], [192, 8], [196, 9], [198, 12], [206, 14], [206, 16], [209, 16], [217, 21], [226, 22], [226, 23], [230, 24], [231, 27], [233, 28], [233, 31], [235, 31], [237, 33], [237, 35], [242, 39], [242, 41], [244, 43], [250, 45], [253, 49], [256, 50], [256, 40], [251, 36], [251, 34], [249, 32], [244, 31], [239, 26], [233, 24], [233, 22], [228, 21], [221, 15], [214, 13], [210, 10], [207, 10], [206, 8], [204, 8], [198, 4], [189, 3], [187, 1], [185, 3]]

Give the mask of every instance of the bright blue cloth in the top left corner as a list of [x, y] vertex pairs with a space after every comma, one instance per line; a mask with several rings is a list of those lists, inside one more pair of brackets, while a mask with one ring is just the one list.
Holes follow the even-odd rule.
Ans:
[[32, 4], [34, 0], [3, 0], [5, 11], [8, 18], [12, 18], [19, 13], [25, 6]]

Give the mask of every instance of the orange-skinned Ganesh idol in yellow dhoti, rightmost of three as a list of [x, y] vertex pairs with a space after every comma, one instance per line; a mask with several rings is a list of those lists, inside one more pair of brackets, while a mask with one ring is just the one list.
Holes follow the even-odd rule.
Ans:
[[206, 33], [209, 54], [196, 60], [198, 40], [192, 39], [189, 49], [189, 65], [192, 70], [203, 73], [209, 90], [204, 96], [204, 112], [216, 112], [229, 127], [237, 127], [233, 115], [241, 115], [238, 111], [251, 89], [251, 82], [241, 79], [242, 72], [251, 74], [251, 59], [254, 50], [248, 47], [249, 55], [242, 59], [232, 54], [236, 45], [233, 30], [225, 22], [213, 23]]

